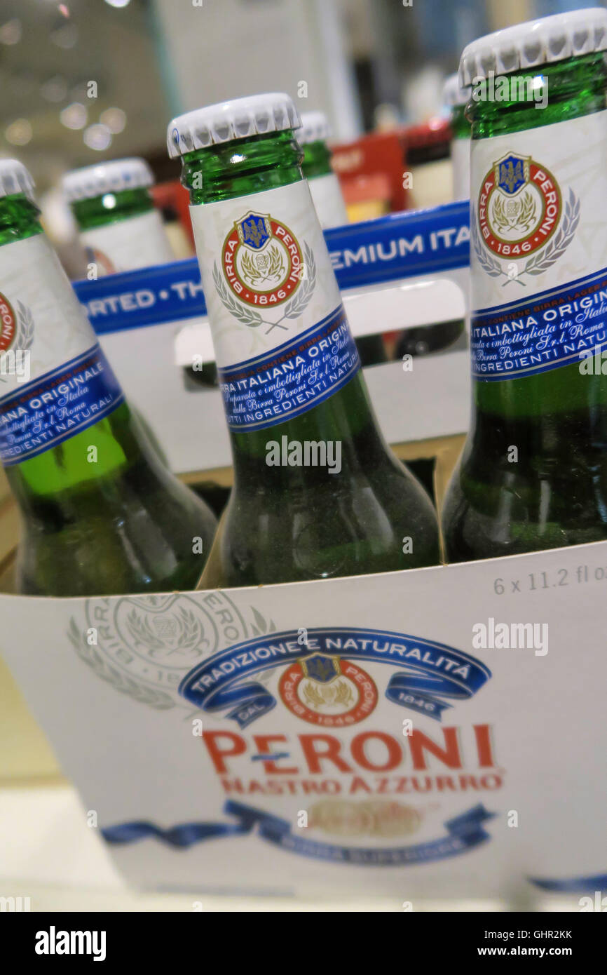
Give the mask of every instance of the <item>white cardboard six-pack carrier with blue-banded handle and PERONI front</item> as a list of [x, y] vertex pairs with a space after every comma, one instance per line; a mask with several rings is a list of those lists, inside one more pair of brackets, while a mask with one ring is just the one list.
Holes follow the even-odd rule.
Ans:
[[[356, 334], [464, 316], [468, 204], [326, 238]], [[212, 359], [195, 262], [76, 290], [172, 469], [229, 484], [220, 394], [184, 382]], [[398, 454], [436, 458], [438, 502], [466, 344], [365, 370]], [[8, 589], [9, 497], [0, 539]], [[5, 592], [0, 648], [137, 886], [577, 899], [607, 873], [606, 588], [599, 542], [235, 590]]]

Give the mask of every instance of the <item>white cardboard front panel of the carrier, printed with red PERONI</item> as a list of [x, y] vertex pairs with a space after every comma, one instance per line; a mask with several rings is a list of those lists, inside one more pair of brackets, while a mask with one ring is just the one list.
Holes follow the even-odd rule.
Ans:
[[[238, 816], [224, 810], [232, 799], [255, 815], [279, 817], [279, 835], [286, 829], [285, 841], [273, 833], [276, 821], [266, 819], [266, 839], [257, 823], [247, 835], [185, 848], [158, 833], [111, 845], [133, 883], [302, 895], [371, 890], [402, 900], [510, 899], [541, 894], [533, 878], [571, 882], [607, 870], [607, 749], [600, 720], [606, 585], [607, 542], [599, 542], [482, 563], [226, 592], [104, 600], [2, 596], [0, 643], [63, 770], [86, 808], [97, 810], [100, 826], [144, 821], [162, 831], [184, 823], [234, 825]], [[490, 617], [509, 625], [548, 624], [548, 652], [474, 647], [474, 624]], [[91, 626], [97, 628], [96, 646], [86, 642]], [[285, 673], [297, 666], [297, 652], [308, 654], [296, 643], [301, 627], [342, 628], [341, 640], [348, 638], [344, 631], [353, 631], [350, 639], [360, 641], [360, 629], [404, 636], [388, 642], [390, 663], [368, 655], [362, 643], [356, 644], [359, 656], [355, 644], [337, 653], [343, 668], [349, 652], [358, 668], [358, 677], [349, 679], [355, 701], [359, 695], [355, 710], [343, 702], [319, 703], [317, 682], [308, 709], [317, 717], [311, 721], [285, 703]], [[257, 636], [268, 651], [279, 645], [272, 634], [285, 631], [294, 650], [263, 657], [260, 674], [241, 677], [241, 683], [261, 682], [266, 704], [274, 701], [247, 727], [229, 717], [234, 702], [201, 711], [177, 692], [185, 675], [210, 655]], [[386, 645], [381, 633], [375, 639]], [[441, 720], [406, 703], [419, 700], [418, 690], [403, 692], [404, 698], [386, 696], [395, 677], [409, 681], [411, 666], [422, 666], [414, 651], [423, 640], [451, 648], [440, 651], [440, 664], [429, 651], [429, 674], [444, 679], [453, 672], [460, 680], [453, 660], [463, 666], [462, 654], [473, 658], [474, 673], [488, 668], [491, 674], [460, 699], [445, 696], [454, 689], [448, 681], [446, 691], [431, 686], [431, 698], [452, 705]], [[242, 654], [250, 652], [241, 647], [232, 654], [235, 673], [247, 662]], [[215, 678], [206, 680], [212, 685]], [[464, 684], [468, 680], [461, 677]], [[367, 693], [373, 685], [376, 701], [361, 714], [358, 688]], [[349, 716], [346, 723], [335, 718], [340, 714]], [[215, 771], [208, 744], [193, 733], [197, 718], [207, 742], [219, 750], [242, 749], [225, 757], [225, 775]], [[403, 734], [409, 719], [412, 735]], [[325, 748], [337, 750], [334, 756], [347, 768], [315, 758]], [[283, 757], [271, 761], [270, 753]], [[390, 769], [380, 768], [390, 763]], [[237, 780], [242, 793], [234, 791]], [[305, 828], [297, 825], [302, 811], [312, 817]], [[458, 833], [462, 822], [468, 828]], [[305, 855], [293, 851], [297, 844], [305, 845]], [[322, 858], [327, 845], [328, 860]], [[343, 862], [359, 855], [371, 863]], [[376, 862], [386, 857], [404, 865]]]

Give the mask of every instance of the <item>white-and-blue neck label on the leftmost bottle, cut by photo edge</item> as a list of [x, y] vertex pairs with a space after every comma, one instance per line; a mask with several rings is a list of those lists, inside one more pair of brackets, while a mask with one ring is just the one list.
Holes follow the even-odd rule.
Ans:
[[44, 234], [0, 247], [0, 461], [57, 447], [123, 401]]

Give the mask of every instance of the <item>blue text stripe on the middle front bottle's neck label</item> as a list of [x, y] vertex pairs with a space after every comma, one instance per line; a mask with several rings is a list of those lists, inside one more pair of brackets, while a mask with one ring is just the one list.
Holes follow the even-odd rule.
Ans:
[[340, 305], [270, 354], [218, 370], [228, 426], [250, 431], [283, 423], [318, 407], [359, 369], [356, 342]]

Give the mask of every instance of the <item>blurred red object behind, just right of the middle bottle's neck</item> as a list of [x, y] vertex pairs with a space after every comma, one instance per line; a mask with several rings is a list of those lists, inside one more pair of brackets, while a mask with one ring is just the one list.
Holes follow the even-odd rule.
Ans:
[[[407, 191], [402, 185], [405, 156], [397, 132], [372, 133], [356, 142], [331, 145], [331, 152], [332, 166], [339, 177], [346, 201], [352, 180], [360, 176], [383, 176], [388, 181], [390, 210], [406, 209]], [[353, 187], [353, 192], [358, 191]]]

